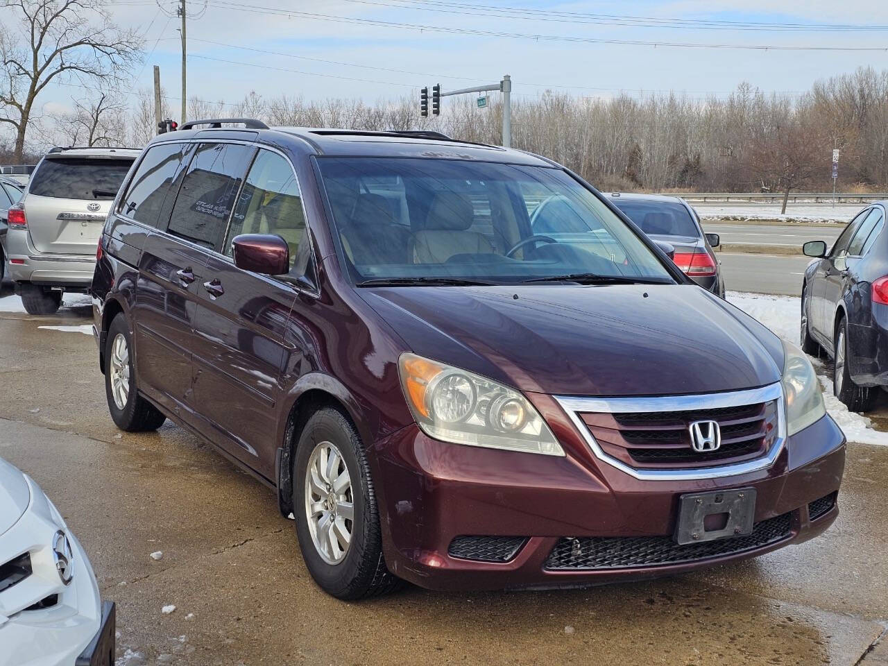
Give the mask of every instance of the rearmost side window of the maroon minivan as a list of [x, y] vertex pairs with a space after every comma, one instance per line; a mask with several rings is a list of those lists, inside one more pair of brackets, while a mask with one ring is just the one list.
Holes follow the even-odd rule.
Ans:
[[183, 143], [148, 148], [118, 212], [137, 222], [157, 226], [158, 214], [170, 191], [185, 148], [186, 144]]

